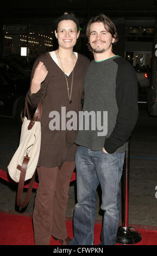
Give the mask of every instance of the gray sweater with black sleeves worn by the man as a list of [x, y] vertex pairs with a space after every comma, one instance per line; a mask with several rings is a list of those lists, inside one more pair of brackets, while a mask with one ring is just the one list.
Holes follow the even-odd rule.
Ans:
[[120, 56], [92, 60], [84, 80], [83, 113], [87, 117], [85, 113], [93, 112], [89, 127], [79, 129], [76, 144], [91, 150], [104, 147], [109, 154], [124, 152], [138, 117], [137, 95], [136, 74], [127, 60]]

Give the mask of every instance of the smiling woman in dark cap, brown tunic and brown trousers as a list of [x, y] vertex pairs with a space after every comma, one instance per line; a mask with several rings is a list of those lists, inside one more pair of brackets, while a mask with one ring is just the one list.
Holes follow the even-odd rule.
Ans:
[[[71, 241], [67, 236], [65, 215], [68, 188], [75, 168], [77, 131], [65, 129], [61, 121], [60, 129], [54, 130], [50, 113], [59, 112], [61, 118], [61, 107], [66, 107], [66, 113], [81, 111], [83, 80], [89, 65], [89, 59], [73, 52], [79, 36], [75, 17], [62, 15], [56, 22], [55, 36], [58, 50], [41, 54], [36, 59], [27, 93], [32, 107], [37, 107], [41, 98], [43, 100], [41, 150], [37, 164], [39, 187], [33, 212], [35, 245], [49, 245], [51, 235], [61, 245]], [[65, 120], [65, 116], [62, 119]]]

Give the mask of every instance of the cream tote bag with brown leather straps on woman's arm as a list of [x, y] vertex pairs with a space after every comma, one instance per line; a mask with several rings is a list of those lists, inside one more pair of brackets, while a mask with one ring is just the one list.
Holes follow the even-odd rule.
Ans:
[[[28, 118], [26, 117], [26, 113]], [[20, 144], [8, 166], [10, 178], [15, 182], [18, 182], [17, 205], [22, 208], [25, 207], [29, 201], [35, 177], [35, 170], [39, 160], [41, 144], [41, 115], [42, 101], [40, 101], [36, 108], [34, 117], [31, 119], [26, 99], [24, 118], [21, 127]], [[24, 181], [29, 179], [32, 180], [30, 181], [28, 188], [28, 195], [22, 204]]]

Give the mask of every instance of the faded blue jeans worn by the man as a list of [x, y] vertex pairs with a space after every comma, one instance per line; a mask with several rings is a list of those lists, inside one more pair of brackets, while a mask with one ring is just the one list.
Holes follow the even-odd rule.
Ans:
[[76, 154], [77, 200], [73, 217], [74, 237], [69, 245], [93, 245], [96, 190], [100, 183], [104, 218], [100, 245], [115, 245], [120, 218], [119, 183], [125, 153], [106, 154], [78, 147]]

